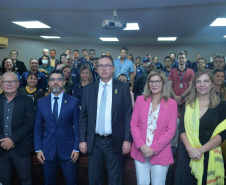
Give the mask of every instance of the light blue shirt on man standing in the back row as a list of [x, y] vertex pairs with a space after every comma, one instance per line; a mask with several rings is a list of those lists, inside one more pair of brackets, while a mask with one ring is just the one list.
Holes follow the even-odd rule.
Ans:
[[131, 60], [125, 59], [121, 64], [121, 59], [114, 60], [115, 72], [114, 79], [117, 79], [120, 74], [125, 74], [130, 80], [130, 73], [134, 72], [133, 62]]

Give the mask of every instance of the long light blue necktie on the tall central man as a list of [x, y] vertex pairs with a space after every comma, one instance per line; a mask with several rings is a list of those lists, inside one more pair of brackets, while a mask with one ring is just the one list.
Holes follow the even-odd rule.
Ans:
[[100, 100], [100, 107], [99, 107], [99, 116], [98, 116], [98, 126], [97, 132], [100, 135], [103, 135], [105, 132], [105, 112], [106, 112], [106, 103], [107, 103], [107, 84], [103, 85], [104, 90]]

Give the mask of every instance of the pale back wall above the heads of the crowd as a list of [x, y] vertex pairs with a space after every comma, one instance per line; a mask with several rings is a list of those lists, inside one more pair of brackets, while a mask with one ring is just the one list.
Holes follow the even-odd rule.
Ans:
[[[73, 44], [73, 43], [61, 43], [53, 41], [40, 41], [31, 39], [22, 39], [16, 37], [9, 38], [9, 47], [0, 49], [0, 60], [2, 61], [5, 57], [9, 56], [10, 50], [17, 50], [19, 53], [18, 59], [23, 61], [26, 66], [29, 65], [31, 58], [39, 58], [42, 56], [42, 49], [48, 48], [55, 49], [57, 51], [56, 58], [59, 59], [60, 55], [66, 51], [66, 49], [78, 49], [80, 51], [80, 57], [82, 56], [82, 49], [95, 49], [97, 56], [103, 51], [108, 51], [112, 54], [113, 58], [116, 59], [119, 55], [121, 46], [114, 45], [90, 45], [90, 44]], [[163, 63], [164, 57], [169, 55], [171, 52], [179, 53], [183, 49], [188, 51], [188, 59], [193, 62], [195, 60], [195, 54], [201, 53], [202, 56], [209, 61], [210, 57], [214, 53], [221, 53], [226, 55], [226, 43], [216, 44], [196, 44], [196, 45], [169, 45], [169, 46], [127, 46], [129, 53], [132, 53], [134, 58], [137, 56], [144, 57], [146, 54], [152, 56], [158, 56], [159, 62]], [[0, 63], [1, 63], [0, 61]]]

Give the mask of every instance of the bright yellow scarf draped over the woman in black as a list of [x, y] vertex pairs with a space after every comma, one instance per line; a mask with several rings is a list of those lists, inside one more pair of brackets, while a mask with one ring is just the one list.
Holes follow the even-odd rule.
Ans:
[[[193, 148], [201, 147], [199, 141], [199, 99], [196, 99], [195, 107], [191, 108], [186, 104], [186, 111], [184, 117], [185, 131], [190, 145]], [[222, 121], [214, 130], [211, 138], [221, 133], [226, 129], [226, 120]], [[191, 167], [191, 173], [197, 179], [197, 184], [202, 184], [203, 171], [204, 171], [204, 155], [200, 160], [190, 160], [189, 166]], [[208, 161], [208, 173], [207, 173], [208, 185], [223, 185], [224, 184], [224, 162], [222, 157], [221, 147], [218, 146], [209, 151]]]

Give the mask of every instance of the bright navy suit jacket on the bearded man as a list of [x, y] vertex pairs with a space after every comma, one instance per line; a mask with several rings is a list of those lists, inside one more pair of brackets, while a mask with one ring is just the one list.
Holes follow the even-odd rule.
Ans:
[[47, 161], [53, 160], [56, 150], [61, 160], [70, 160], [72, 151], [79, 151], [78, 119], [76, 98], [63, 95], [57, 123], [51, 109], [51, 94], [39, 99], [34, 127], [35, 151], [42, 150]]

